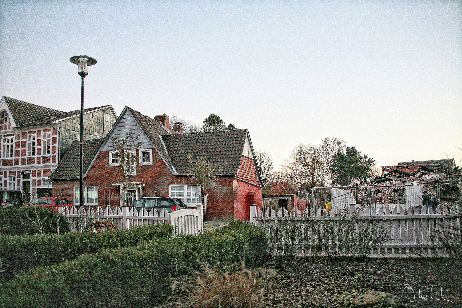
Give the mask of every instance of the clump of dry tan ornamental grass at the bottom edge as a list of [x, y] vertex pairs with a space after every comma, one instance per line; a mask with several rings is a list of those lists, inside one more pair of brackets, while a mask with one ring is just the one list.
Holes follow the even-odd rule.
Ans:
[[[271, 272], [271, 275], [275, 273]], [[234, 272], [223, 272], [206, 265], [202, 272], [194, 272], [189, 278], [174, 282], [174, 295], [170, 297], [170, 302], [177, 307], [259, 307], [267, 283], [258, 276], [262, 277], [261, 274], [252, 275], [251, 270], [245, 269], [244, 263], [240, 270]], [[270, 280], [268, 275], [264, 276]]]

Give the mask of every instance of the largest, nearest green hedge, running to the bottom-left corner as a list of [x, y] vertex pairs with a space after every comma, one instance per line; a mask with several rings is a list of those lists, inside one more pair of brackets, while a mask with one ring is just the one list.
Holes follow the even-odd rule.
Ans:
[[[223, 267], [247, 260], [256, 249], [249, 242], [258, 234], [253, 228], [231, 225], [38, 267], [0, 285], [0, 307], [149, 307], [164, 301], [170, 294], [168, 278], [181, 276], [187, 267]], [[255, 266], [263, 261], [251, 260]]]

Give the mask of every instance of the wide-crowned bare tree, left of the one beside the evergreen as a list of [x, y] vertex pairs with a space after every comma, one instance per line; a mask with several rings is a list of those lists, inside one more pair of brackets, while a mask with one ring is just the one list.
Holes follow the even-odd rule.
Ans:
[[304, 189], [324, 184], [328, 169], [321, 146], [300, 144], [291, 153], [291, 160], [284, 160], [283, 170], [290, 183]]

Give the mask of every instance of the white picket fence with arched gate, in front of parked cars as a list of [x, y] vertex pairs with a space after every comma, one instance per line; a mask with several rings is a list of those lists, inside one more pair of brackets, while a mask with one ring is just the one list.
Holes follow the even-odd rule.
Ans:
[[61, 206], [60, 212], [66, 217], [73, 232], [82, 232], [95, 221], [109, 221], [122, 230], [151, 224], [170, 223], [174, 226], [176, 235], [197, 235], [204, 231], [202, 206], [197, 206], [197, 209], [172, 211], [170, 214], [166, 209], [161, 211], [142, 209], [138, 212], [129, 206], [117, 206], [114, 209], [109, 206], [104, 209], [101, 206], [86, 209], [85, 207]]

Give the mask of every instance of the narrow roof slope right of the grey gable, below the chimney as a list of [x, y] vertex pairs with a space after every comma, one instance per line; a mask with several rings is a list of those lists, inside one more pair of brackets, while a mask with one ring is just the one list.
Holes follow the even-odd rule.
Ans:
[[127, 107], [127, 109], [138, 122], [141, 129], [146, 133], [146, 136], [152, 141], [156, 149], [160, 152], [160, 155], [162, 155], [165, 161], [171, 166], [170, 157], [165, 152], [164, 144], [160, 138], [160, 135], [169, 134], [169, 132], [167, 132], [158, 121], [148, 117], [147, 115], [143, 115], [142, 113], [139, 113], [130, 107]]

